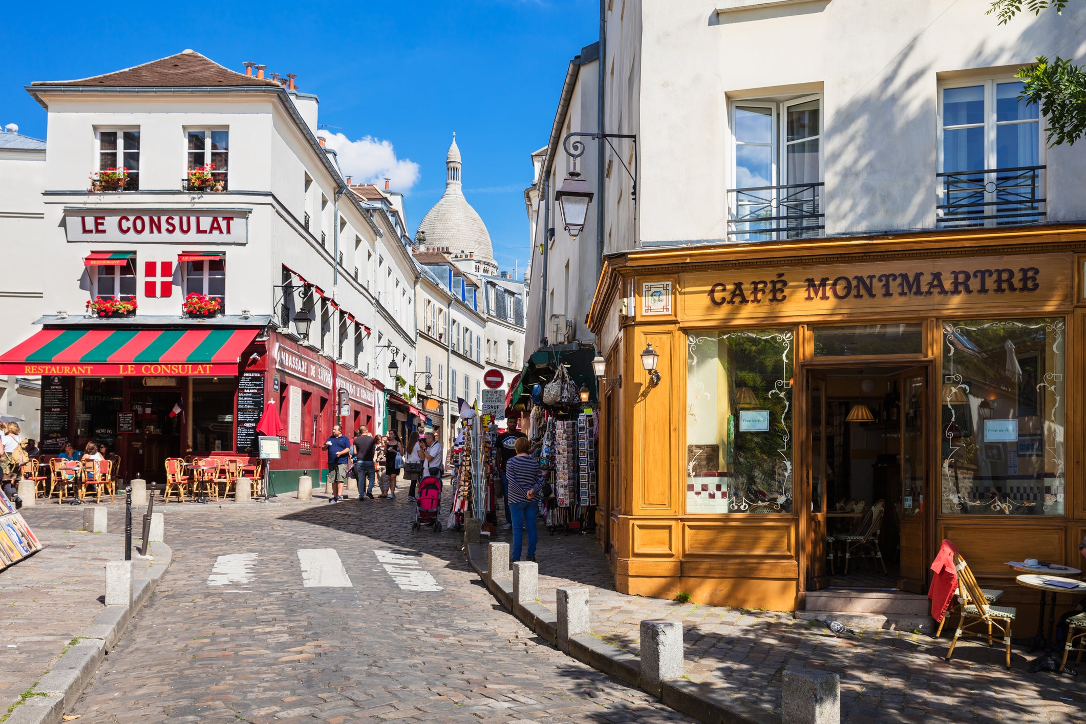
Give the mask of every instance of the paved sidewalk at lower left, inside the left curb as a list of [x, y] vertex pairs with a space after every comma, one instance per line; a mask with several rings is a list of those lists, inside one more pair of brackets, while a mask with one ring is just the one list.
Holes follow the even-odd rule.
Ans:
[[[102, 612], [105, 562], [124, 557], [122, 535], [41, 529], [24, 518], [46, 547], [0, 573], [0, 719]], [[78, 528], [83, 512], [70, 518]]]

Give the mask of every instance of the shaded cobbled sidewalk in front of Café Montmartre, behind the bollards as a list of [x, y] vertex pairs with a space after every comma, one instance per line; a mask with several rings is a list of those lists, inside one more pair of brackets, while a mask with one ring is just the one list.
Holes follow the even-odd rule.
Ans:
[[536, 559], [544, 606], [555, 610], [558, 586], [592, 586], [593, 633], [633, 653], [643, 619], [680, 620], [690, 678], [747, 704], [779, 709], [781, 672], [808, 666], [841, 675], [842, 721], [854, 724], [1086, 722], [1086, 665], [1077, 677], [1030, 674], [1026, 663], [1036, 655], [1021, 646], [1008, 671], [1003, 649], [977, 639], [960, 643], [947, 662], [947, 637], [863, 631], [858, 639], [836, 638], [824, 624], [791, 613], [619, 594], [591, 535], [541, 532]]

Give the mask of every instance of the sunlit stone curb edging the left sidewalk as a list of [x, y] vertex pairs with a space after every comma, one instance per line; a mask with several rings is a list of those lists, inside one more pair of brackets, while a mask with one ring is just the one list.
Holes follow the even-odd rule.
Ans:
[[165, 543], [151, 543], [150, 548], [153, 564], [141, 577], [132, 580], [131, 605], [105, 607], [35, 685], [30, 696], [3, 720], [4, 724], [56, 724], [63, 721], [64, 711], [75, 704], [105, 655], [121, 640], [132, 617], [151, 597], [169, 568], [173, 549]]

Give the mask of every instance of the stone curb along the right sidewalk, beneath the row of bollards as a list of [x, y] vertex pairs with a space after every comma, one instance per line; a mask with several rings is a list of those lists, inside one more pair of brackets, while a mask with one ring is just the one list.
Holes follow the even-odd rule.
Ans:
[[[465, 545], [465, 552], [471, 568], [498, 602], [534, 631], [540, 638], [556, 646], [557, 614], [538, 601], [514, 604], [512, 579], [490, 576], [487, 571], [487, 551], [482, 544], [468, 543]], [[652, 691], [641, 681], [640, 657], [591, 634], [570, 636], [568, 655], [613, 678], [659, 698], [671, 709], [706, 724], [781, 724], [779, 713], [740, 707], [720, 691], [687, 678], [665, 681], [660, 690]]]

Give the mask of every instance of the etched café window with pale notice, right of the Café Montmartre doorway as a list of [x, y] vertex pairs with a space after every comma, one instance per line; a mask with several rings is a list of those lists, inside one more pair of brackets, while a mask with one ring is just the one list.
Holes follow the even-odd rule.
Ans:
[[1062, 317], [943, 325], [943, 513], [1061, 516]]

